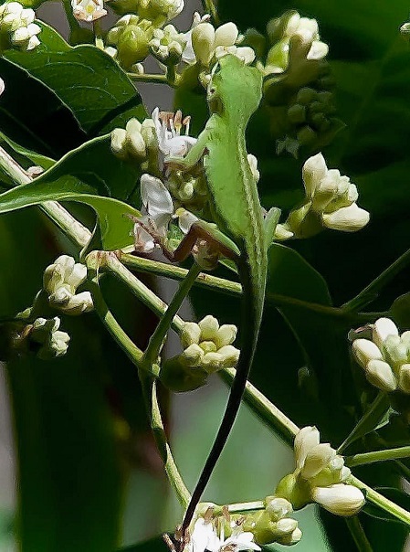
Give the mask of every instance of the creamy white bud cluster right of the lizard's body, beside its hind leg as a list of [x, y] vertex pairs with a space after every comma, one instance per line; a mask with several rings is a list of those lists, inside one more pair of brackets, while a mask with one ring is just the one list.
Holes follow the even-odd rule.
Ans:
[[309, 238], [323, 228], [355, 232], [369, 222], [368, 211], [356, 203], [356, 186], [337, 169], [328, 169], [322, 154], [306, 161], [302, 176], [306, 199], [278, 225], [277, 239]]

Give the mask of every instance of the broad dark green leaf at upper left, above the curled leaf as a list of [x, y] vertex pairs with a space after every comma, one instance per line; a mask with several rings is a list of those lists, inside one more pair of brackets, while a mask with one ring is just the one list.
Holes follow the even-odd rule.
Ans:
[[94, 46], [72, 48], [57, 31], [44, 23], [41, 27], [41, 44], [28, 54], [6, 50], [5, 64], [52, 90], [85, 133], [107, 133], [131, 117], [145, 116], [139, 93], [110, 56]]

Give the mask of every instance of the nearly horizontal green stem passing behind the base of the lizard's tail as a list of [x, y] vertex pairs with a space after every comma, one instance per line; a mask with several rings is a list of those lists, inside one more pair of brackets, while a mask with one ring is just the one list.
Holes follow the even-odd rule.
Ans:
[[[165, 278], [171, 278], [173, 280], [183, 280], [186, 277], [188, 271], [172, 264], [166, 264], [157, 260], [142, 259], [141, 257], [134, 257], [132, 255], [121, 255], [121, 262], [134, 271], [149, 272]], [[200, 287], [216, 290], [219, 292], [225, 292], [230, 295], [240, 295], [242, 293], [242, 287], [237, 281], [225, 280], [224, 278], [218, 278], [200, 272], [195, 281], [195, 285]], [[373, 321], [380, 317], [383, 313], [347, 313], [342, 308], [328, 307], [319, 303], [309, 303], [293, 297], [287, 297], [286, 295], [279, 295], [277, 293], [267, 293], [268, 303], [272, 303], [277, 307], [293, 306], [300, 309], [306, 309], [314, 313], [319, 313], [324, 316], [331, 316], [333, 318], [340, 318], [346, 320], [346, 322], [359, 323]]]

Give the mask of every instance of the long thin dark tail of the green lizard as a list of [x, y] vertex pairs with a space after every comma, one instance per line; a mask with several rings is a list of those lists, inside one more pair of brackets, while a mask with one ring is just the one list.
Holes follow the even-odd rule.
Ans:
[[205, 486], [214, 471], [216, 462], [221, 455], [235, 419], [237, 418], [237, 411], [240, 407], [242, 396], [247, 385], [250, 366], [252, 365], [252, 360], [255, 355], [263, 311], [265, 282], [255, 281], [252, 278], [252, 271], [247, 265], [247, 262], [245, 264], [246, 266], [242, 265], [239, 270], [242, 289], [247, 292], [243, 294], [242, 299], [241, 331], [243, 332], [243, 339], [239, 360], [237, 362], [237, 372], [226, 403], [224, 417], [216, 434], [216, 440], [209, 452], [204, 469], [199, 476], [191, 501], [186, 509], [184, 522], [181, 526], [182, 535], [185, 535], [192, 521], [196, 505], [199, 503], [205, 491]]

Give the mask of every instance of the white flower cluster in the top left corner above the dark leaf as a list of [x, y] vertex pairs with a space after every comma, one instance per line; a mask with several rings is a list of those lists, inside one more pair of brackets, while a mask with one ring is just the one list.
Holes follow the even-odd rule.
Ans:
[[18, 2], [8, 2], [0, 6], [0, 34], [7, 35], [11, 44], [22, 50], [36, 48], [41, 31], [34, 20], [36, 14], [31, 8], [25, 8]]

